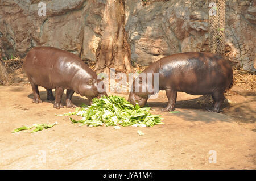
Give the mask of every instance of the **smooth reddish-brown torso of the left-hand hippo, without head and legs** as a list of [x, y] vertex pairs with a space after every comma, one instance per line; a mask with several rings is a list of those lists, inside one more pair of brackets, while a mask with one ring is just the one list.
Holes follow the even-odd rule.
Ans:
[[73, 53], [53, 47], [36, 47], [28, 52], [23, 69], [30, 82], [46, 89], [73, 89], [81, 80], [97, 75]]

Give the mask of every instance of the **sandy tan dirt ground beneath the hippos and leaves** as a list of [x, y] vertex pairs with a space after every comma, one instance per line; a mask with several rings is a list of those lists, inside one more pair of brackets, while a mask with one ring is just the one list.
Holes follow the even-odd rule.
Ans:
[[[0, 86], [0, 169], [256, 169], [255, 90], [234, 86], [222, 113], [204, 110], [201, 96], [179, 92], [178, 114], [160, 112], [167, 104], [160, 91], [148, 106], [162, 115], [163, 125], [90, 128], [72, 124], [69, 116], [55, 116], [73, 110], [53, 109], [42, 87], [43, 103], [32, 103], [26, 77], [18, 73], [15, 78], [15, 86]], [[88, 100], [74, 94], [73, 103]], [[36, 133], [11, 133], [23, 125], [55, 121], [59, 124]]]

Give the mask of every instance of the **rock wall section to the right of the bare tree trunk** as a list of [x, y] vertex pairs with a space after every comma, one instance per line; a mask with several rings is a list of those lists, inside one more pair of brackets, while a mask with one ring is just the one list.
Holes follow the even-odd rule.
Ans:
[[[142, 5], [127, 1], [132, 59], [150, 64], [178, 52], [209, 50], [208, 1], [170, 0]], [[245, 70], [255, 71], [256, 1], [226, 0], [226, 55]]]

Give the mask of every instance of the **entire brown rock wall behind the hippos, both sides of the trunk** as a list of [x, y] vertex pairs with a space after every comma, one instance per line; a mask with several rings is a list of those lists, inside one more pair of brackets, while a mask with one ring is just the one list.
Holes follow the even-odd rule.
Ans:
[[[39, 16], [39, 2], [46, 16]], [[142, 65], [168, 54], [208, 50], [205, 0], [126, 0], [131, 59]], [[38, 45], [95, 60], [102, 35], [105, 0], [0, 1], [0, 53], [25, 56]], [[256, 1], [226, 0], [226, 55], [237, 67], [256, 71]]]

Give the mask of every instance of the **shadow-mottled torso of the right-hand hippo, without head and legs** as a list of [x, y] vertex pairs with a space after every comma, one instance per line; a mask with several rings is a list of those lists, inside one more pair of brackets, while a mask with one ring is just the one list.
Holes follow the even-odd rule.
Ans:
[[164, 57], [144, 72], [159, 73], [159, 90], [166, 88], [192, 95], [227, 89], [233, 80], [230, 63], [209, 52], [187, 52]]

